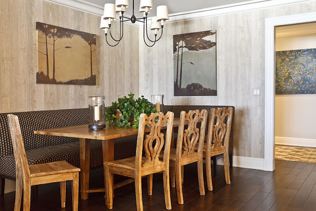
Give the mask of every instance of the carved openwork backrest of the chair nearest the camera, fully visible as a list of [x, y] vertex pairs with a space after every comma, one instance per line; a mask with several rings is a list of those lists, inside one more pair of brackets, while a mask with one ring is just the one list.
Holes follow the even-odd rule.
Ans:
[[[144, 140], [145, 126], [149, 125], [150, 133]], [[163, 124], [166, 124], [166, 137], [160, 132]], [[164, 145], [163, 161], [169, 164], [170, 142], [173, 125], [173, 113], [152, 113], [149, 117], [146, 114], [140, 115], [138, 137], [136, 146], [135, 169], [141, 170], [142, 167], [155, 166], [160, 163], [159, 154]], [[145, 152], [146, 162], [142, 165], [142, 152]], [[168, 166], [168, 165], [167, 165]]]

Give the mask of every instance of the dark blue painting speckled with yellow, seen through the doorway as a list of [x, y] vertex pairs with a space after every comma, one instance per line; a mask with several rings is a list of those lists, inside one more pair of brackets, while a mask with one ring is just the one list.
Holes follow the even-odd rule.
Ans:
[[316, 48], [276, 51], [276, 94], [316, 94]]

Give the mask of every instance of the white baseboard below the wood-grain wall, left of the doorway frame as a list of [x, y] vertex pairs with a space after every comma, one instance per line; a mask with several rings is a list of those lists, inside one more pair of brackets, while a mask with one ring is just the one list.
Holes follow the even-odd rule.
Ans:
[[[218, 165], [224, 165], [223, 157], [218, 158], [216, 163]], [[233, 167], [264, 170], [264, 159], [233, 156]]]

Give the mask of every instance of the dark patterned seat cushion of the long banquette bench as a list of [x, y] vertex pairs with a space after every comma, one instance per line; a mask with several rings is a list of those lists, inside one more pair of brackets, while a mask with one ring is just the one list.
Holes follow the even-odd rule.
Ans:
[[[114, 159], [119, 160], [135, 156], [136, 142], [137, 135], [116, 138], [114, 140]], [[90, 168], [101, 167], [103, 165], [102, 141], [91, 140], [90, 152]], [[71, 165], [80, 168], [79, 154], [79, 141], [26, 151], [29, 165], [65, 160]], [[15, 160], [13, 154], [0, 157], [0, 174], [15, 177]]]

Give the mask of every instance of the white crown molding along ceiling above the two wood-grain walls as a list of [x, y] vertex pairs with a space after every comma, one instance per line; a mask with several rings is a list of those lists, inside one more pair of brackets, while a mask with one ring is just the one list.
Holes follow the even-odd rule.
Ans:
[[[102, 16], [103, 15], [103, 6], [98, 4], [90, 3], [85, 0], [45, 0], [48, 2], [60, 4], [67, 6], [73, 9], [78, 9], [83, 12], [88, 12], [94, 15]], [[249, 10], [256, 10], [262, 8], [269, 8], [274, 6], [281, 6], [285, 4], [300, 3], [304, 1], [313, 1], [313, 0], [250, 0], [240, 3], [227, 4], [223, 6], [210, 7], [205, 9], [193, 10], [188, 12], [179, 12], [170, 14], [170, 20], [167, 23], [178, 22], [184, 20], [192, 20], [197, 18], [206, 18], [218, 15], [225, 15], [237, 12], [244, 12]], [[125, 13], [126, 16], [131, 16], [130, 14]], [[118, 20], [118, 17], [117, 17]], [[143, 26], [143, 23], [136, 22], [134, 24], [125, 22], [134, 26]], [[148, 18], [148, 23], [151, 23], [151, 18]]]

